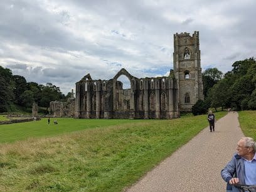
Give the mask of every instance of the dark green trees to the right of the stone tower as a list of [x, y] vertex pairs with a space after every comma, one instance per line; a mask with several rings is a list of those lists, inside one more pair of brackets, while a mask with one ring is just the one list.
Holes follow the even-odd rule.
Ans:
[[256, 61], [249, 58], [235, 61], [233, 69], [223, 75], [217, 68], [202, 73], [205, 100], [198, 100], [192, 108], [194, 115], [205, 114], [208, 108], [215, 110], [256, 109]]

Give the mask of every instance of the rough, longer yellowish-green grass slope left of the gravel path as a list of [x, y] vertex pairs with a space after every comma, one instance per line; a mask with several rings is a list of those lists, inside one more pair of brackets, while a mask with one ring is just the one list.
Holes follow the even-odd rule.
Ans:
[[207, 125], [206, 115], [134, 120], [0, 144], [0, 191], [122, 191]]

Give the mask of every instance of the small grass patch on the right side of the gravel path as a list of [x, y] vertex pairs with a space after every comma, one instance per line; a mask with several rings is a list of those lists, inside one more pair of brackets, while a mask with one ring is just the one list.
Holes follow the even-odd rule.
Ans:
[[256, 141], [256, 110], [243, 110], [238, 114], [243, 134], [252, 137]]

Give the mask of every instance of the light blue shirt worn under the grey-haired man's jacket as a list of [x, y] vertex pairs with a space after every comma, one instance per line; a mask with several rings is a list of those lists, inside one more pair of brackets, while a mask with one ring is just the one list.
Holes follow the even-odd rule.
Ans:
[[244, 159], [245, 163], [245, 184], [256, 184], [256, 152], [251, 161]]

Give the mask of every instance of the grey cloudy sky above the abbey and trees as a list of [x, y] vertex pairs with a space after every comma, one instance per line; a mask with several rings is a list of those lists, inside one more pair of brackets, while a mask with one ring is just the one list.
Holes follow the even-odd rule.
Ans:
[[1, 0], [0, 65], [70, 92], [90, 73], [167, 75], [174, 33], [200, 31], [201, 67], [256, 57], [255, 0]]

